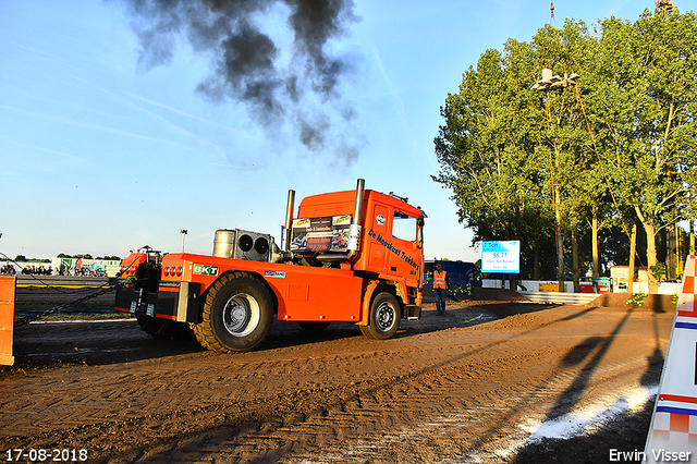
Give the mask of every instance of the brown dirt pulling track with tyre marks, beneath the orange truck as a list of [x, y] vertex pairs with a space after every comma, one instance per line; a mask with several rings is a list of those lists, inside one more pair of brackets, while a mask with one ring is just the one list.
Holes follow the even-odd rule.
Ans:
[[0, 368], [0, 452], [86, 450], [88, 462], [109, 463], [602, 463], [610, 450], [644, 449], [670, 296], [638, 308], [626, 295], [558, 306], [475, 290], [445, 316], [427, 305], [393, 340], [348, 323], [309, 333], [274, 322], [260, 347], [235, 355], [150, 338], [131, 319], [17, 327], [16, 363]]

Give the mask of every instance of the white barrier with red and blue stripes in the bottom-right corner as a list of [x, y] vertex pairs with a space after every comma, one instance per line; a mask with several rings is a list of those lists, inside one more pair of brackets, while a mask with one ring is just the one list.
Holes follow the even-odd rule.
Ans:
[[685, 264], [661, 382], [643, 456], [649, 463], [697, 461], [697, 308], [695, 256]]

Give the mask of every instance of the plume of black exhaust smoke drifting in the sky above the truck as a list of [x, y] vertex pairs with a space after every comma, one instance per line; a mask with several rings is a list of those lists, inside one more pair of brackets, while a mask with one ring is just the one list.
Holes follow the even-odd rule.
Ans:
[[[185, 37], [195, 52], [211, 57], [211, 73], [197, 91], [244, 103], [268, 129], [289, 123], [313, 151], [325, 148], [332, 126], [328, 102], [343, 107], [337, 113], [345, 123], [354, 114], [338, 91], [342, 75], [352, 71], [351, 59], [327, 51], [330, 40], [358, 21], [352, 0], [124, 1], [142, 47], [142, 72], [169, 64], [178, 39]], [[279, 14], [288, 19], [281, 30], [288, 40], [262, 30], [265, 21]], [[346, 162], [356, 157], [344, 139], [335, 145]]]

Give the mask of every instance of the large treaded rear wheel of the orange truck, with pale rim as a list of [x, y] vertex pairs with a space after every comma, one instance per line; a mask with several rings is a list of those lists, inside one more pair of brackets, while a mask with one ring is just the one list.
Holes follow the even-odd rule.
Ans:
[[273, 298], [264, 282], [248, 272], [232, 272], [211, 285], [194, 334], [207, 350], [245, 352], [264, 341], [272, 316]]

